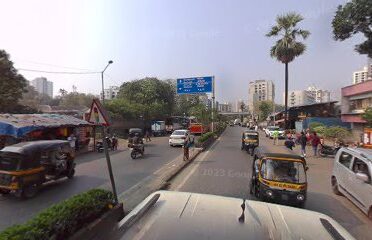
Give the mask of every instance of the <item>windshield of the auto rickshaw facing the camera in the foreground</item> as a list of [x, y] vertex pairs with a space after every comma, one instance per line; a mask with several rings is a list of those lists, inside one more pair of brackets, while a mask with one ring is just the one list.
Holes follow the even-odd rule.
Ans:
[[304, 165], [295, 161], [264, 159], [261, 163], [261, 176], [278, 182], [306, 182]]

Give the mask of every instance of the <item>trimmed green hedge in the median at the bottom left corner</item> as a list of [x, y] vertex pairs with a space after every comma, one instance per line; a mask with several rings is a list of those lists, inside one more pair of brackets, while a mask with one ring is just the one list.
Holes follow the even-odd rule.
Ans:
[[111, 192], [92, 189], [43, 210], [23, 225], [5, 229], [0, 233], [0, 239], [67, 239], [108, 211], [113, 203]]

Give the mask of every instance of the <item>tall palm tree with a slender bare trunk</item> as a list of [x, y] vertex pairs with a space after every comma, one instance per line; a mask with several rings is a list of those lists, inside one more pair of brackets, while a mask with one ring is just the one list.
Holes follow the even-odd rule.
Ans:
[[273, 26], [267, 37], [281, 37], [270, 49], [272, 58], [285, 64], [285, 118], [284, 126], [287, 125], [288, 112], [288, 64], [296, 57], [303, 54], [306, 50], [305, 44], [296, 41], [297, 37], [306, 39], [310, 32], [297, 27], [297, 24], [303, 20], [303, 17], [297, 13], [287, 13], [276, 18], [276, 25]]

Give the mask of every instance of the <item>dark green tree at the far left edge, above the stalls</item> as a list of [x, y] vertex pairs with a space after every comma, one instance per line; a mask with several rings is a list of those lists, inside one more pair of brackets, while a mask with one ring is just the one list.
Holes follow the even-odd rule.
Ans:
[[0, 50], [0, 112], [14, 111], [26, 86], [26, 79], [14, 68], [9, 54]]

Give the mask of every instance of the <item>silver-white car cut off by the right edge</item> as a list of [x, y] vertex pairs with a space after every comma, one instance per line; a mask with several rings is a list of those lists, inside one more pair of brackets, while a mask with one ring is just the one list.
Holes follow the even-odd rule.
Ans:
[[341, 148], [331, 177], [332, 190], [344, 195], [372, 220], [372, 149]]

